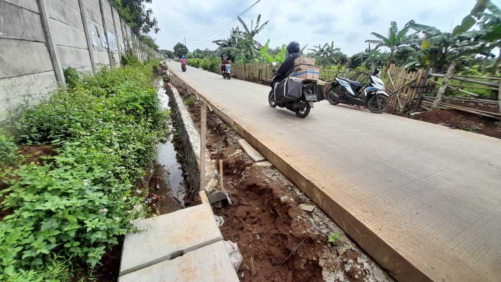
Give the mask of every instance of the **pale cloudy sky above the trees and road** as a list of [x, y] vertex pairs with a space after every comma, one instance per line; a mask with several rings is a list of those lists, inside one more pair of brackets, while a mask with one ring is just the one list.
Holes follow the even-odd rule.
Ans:
[[[223, 27], [254, 2], [153, 0], [148, 7], [153, 9], [161, 31], [152, 36], [161, 49], [172, 50], [175, 43], [186, 37], [189, 51], [213, 50], [217, 45], [211, 41], [228, 37], [230, 28], [240, 23]], [[270, 45], [276, 47], [296, 40], [310, 48], [334, 41], [343, 53], [353, 55], [367, 47], [365, 40], [373, 38], [371, 32], [386, 35], [391, 21], [396, 21], [399, 29], [414, 20], [449, 31], [451, 23], [459, 24], [475, 3], [475, 0], [261, 0], [242, 19], [247, 26], [251, 20], [256, 22], [259, 14], [262, 23], [270, 21], [256, 37], [262, 44], [270, 39]]]

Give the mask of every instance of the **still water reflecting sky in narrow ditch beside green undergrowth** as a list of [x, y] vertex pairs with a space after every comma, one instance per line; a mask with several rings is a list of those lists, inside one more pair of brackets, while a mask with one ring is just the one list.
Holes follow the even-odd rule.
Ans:
[[[161, 82], [157, 82], [161, 85]], [[163, 89], [158, 91], [162, 107], [169, 110], [169, 96]], [[184, 207], [184, 179], [181, 164], [176, 159], [176, 150], [172, 143], [174, 128], [169, 123], [169, 136], [165, 143], [157, 146], [158, 158], [154, 164], [154, 173], [150, 179], [150, 193], [159, 196], [155, 208], [160, 214], [169, 213]]]

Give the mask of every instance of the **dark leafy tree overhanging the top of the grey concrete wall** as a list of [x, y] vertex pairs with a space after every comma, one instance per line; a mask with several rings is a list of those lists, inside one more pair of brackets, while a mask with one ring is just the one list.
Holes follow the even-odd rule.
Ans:
[[155, 33], [160, 31], [153, 11], [144, 6], [144, 3], [151, 2], [152, 0], [113, 0], [112, 4], [135, 33], [148, 34], [152, 30]]

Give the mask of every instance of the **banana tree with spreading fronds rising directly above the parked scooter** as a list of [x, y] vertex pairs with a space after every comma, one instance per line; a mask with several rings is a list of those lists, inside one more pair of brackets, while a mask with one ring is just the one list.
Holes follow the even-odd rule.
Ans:
[[377, 40], [365, 41], [366, 43], [376, 44], [375, 49], [378, 49], [379, 47], [387, 47], [390, 49], [390, 58], [388, 58], [388, 63], [386, 63], [386, 68], [390, 67], [391, 62], [393, 61], [395, 51], [397, 51], [399, 47], [416, 42], [417, 36], [415, 34], [407, 35], [407, 32], [409, 32], [409, 23], [407, 23], [404, 26], [404, 28], [399, 31], [397, 23], [391, 22], [390, 28], [388, 29], [387, 37], [378, 33], [371, 33], [371, 35], [376, 37]]

